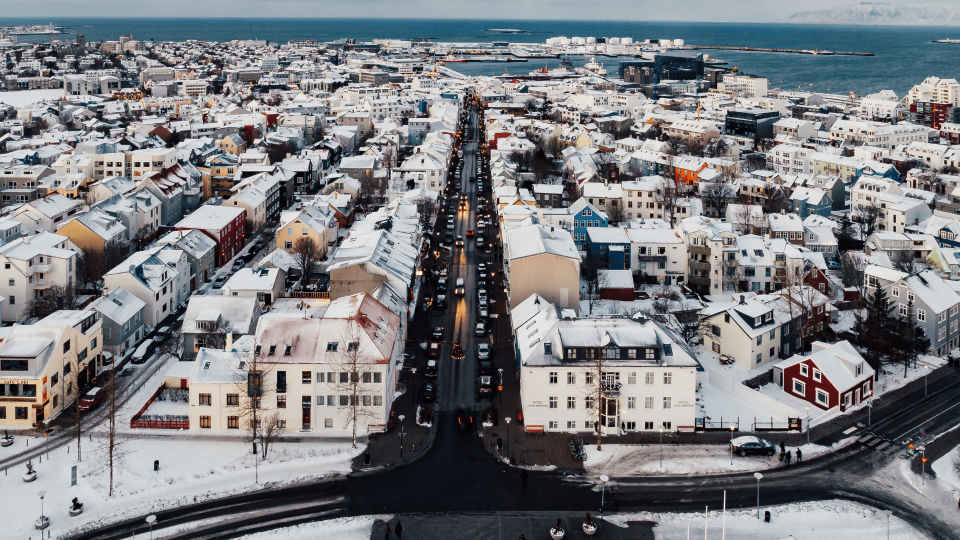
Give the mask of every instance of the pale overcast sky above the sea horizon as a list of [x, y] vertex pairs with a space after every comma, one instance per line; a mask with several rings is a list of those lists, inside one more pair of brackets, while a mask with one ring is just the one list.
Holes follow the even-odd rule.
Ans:
[[[10, 17], [397, 17], [780, 21], [791, 13], [843, 6], [844, 0], [0, 0]], [[899, 0], [957, 5], [956, 0]]]

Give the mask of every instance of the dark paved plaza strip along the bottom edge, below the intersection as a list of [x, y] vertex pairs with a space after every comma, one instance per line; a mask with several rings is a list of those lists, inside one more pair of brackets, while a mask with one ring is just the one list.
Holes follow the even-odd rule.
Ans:
[[[591, 538], [583, 533], [585, 514], [570, 512], [530, 512], [497, 514], [401, 515], [389, 522], [377, 520], [370, 540], [396, 539], [397, 522], [403, 528], [402, 540], [516, 540], [523, 535], [528, 540], [550, 538], [550, 529], [557, 518], [566, 531], [564, 540]], [[654, 540], [652, 522], [627, 522], [621, 528], [591, 513], [591, 520], [599, 524], [595, 536], [608, 540]], [[384, 526], [390, 534], [384, 535]]]

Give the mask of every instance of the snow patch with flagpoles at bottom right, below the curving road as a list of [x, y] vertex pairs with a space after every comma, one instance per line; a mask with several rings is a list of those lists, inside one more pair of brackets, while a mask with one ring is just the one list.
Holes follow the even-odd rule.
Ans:
[[[761, 503], [763, 502], [761, 493]], [[718, 501], [719, 502], [719, 501]], [[726, 537], [736, 540], [823, 540], [824, 538], [886, 538], [887, 517], [880, 510], [847, 501], [797, 503], [761, 506], [770, 511], [770, 523], [757, 519], [756, 509], [722, 511], [710, 508], [709, 514], [616, 514], [604, 519], [613, 525], [627, 521], [654, 521], [657, 540], [720, 538], [726, 523]], [[608, 525], [610, 526], [610, 525]], [[706, 535], [704, 533], [706, 528]], [[688, 536], [689, 533], [689, 536]], [[601, 533], [602, 534], [602, 533]], [[921, 540], [927, 535], [895, 516], [890, 517], [890, 540]]]

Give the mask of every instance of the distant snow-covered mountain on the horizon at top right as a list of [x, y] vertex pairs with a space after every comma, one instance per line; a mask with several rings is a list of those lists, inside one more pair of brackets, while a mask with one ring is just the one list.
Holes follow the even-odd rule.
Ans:
[[960, 26], [960, 7], [902, 6], [860, 2], [816, 11], [802, 11], [786, 22], [800, 24], [870, 24], [894, 26]]

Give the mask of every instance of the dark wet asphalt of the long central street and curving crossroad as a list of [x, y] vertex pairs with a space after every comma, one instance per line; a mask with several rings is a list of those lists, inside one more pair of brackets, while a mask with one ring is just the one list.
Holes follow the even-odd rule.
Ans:
[[[437, 414], [436, 435], [432, 447], [419, 459], [382, 472], [365, 472], [332, 481], [304, 482], [269, 488], [201, 504], [156, 512], [155, 529], [192, 523], [189, 531], [177, 538], [201, 538], [216, 534], [217, 538], [236, 538], [256, 530], [283, 525], [328, 519], [337, 515], [404, 514], [434, 512], [515, 512], [571, 511], [596, 512], [600, 509], [600, 491], [596, 478], [582, 471], [529, 471], [524, 486], [520, 469], [510, 467], [492, 455], [478, 437], [481, 429], [460, 430], [455, 413], [460, 407], [480, 411], [491, 402], [480, 400], [476, 393], [476, 347], [473, 328], [477, 321], [477, 264], [485, 257], [466, 230], [475, 229], [477, 219], [476, 175], [477, 119], [471, 113], [472, 142], [465, 145], [461, 182], [462, 190], [449, 197], [449, 204], [458, 203], [459, 194], [468, 195], [465, 210], [457, 211], [454, 236], [463, 235], [463, 248], [452, 246], [448, 254], [449, 307], [445, 311], [430, 308], [431, 325], [443, 323], [444, 349], [439, 360], [440, 392], [434, 404]], [[478, 178], [479, 180], [479, 178]], [[489, 185], [486, 186], [489, 188]], [[441, 214], [442, 215], [442, 214]], [[438, 222], [440, 237], [446, 229]], [[438, 239], [440, 238], [438, 237]], [[434, 248], [436, 249], [436, 248]], [[495, 252], [495, 251], [494, 251]], [[498, 276], [499, 277], [499, 276]], [[463, 296], [456, 296], [457, 278], [465, 281]], [[501, 287], [502, 291], [502, 287]], [[491, 291], [492, 293], [492, 291]], [[497, 296], [501, 332], [506, 327], [506, 310], [502, 295]], [[429, 329], [411, 329], [411, 335], [426, 335]], [[501, 341], [507, 341], [509, 332]], [[450, 358], [452, 344], [464, 346], [465, 357]], [[512, 355], [506, 345], [498, 347], [497, 367], [505, 374], [515, 372]], [[418, 352], [422, 356], [422, 351]], [[422, 358], [415, 362], [421, 365]], [[422, 378], [417, 377], [415, 385]], [[516, 390], [516, 381], [505, 377], [508, 390]], [[838, 423], [835, 434], [824, 437], [833, 442], [851, 434], [862, 435], [872, 430], [884, 440], [897, 440], [896, 448], [906, 438], [924, 427], [928, 432], [942, 433], [957, 424], [960, 398], [956, 387], [957, 373], [943, 377], [923, 389], [907, 393], [872, 418], [866, 426], [862, 418]], [[416, 388], [419, 393], [420, 389]], [[926, 397], [925, 397], [926, 394]], [[419, 398], [418, 398], [419, 399]], [[493, 399], [496, 399], [494, 393]], [[508, 413], [501, 412], [500, 416]], [[476, 418], [476, 413], [474, 414]], [[849, 433], [844, 431], [856, 428]], [[894, 445], [891, 445], [894, 447]], [[937, 539], [955, 538], [957, 519], [952, 508], [934, 506], [922, 492], [906, 485], [900, 477], [884, 476], [898, 465], [899, 454], [877, 451], [875, 446], [849, 446], [811, 459], [789, 469], [763, 471], [760, 482], [761, 504], [764, 506], [801, 501], [848, 499], [891, 509], [894, 514]], [[897, 483], [903, 486], [896, 485]], [[756, 504], [757, 480], [752, 472], [701, 476], [643, 476], [613, 478], [606, 493], [607, 512], [637, 511], [702, 511], [705, 506], [719, 508], [723, 493], [729, 508], [752, 508]], [[252, 513], [256, 513], [254, 516]], [[77, 540], [129, 538], [132, 533], [145, 533], [146, 516], [101, 527], [96, 531], [74, 535]], [[203, 520], [203, 521], [201, 521]], [[219, 520], [219, 521], [218, 521]]]

